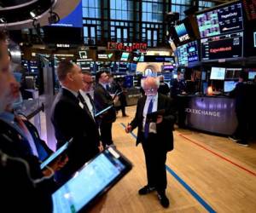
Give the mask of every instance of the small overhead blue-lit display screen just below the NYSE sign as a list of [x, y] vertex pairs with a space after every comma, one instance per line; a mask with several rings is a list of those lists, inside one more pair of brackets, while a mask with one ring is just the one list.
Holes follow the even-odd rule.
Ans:
[[188, 66], [189, 63], [199, 60], [197, 42], [190, 42], [177, 47], [179, 66]]

